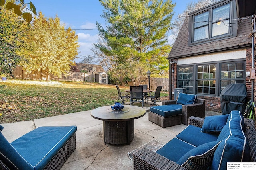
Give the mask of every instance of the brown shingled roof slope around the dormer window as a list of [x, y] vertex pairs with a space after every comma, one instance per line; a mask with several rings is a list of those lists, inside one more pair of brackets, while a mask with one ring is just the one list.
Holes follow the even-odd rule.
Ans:
[[251, 38], [251, 20], [245, 19], [238, 27], [237, 36], [229, 39], [212, 41], [200, 45], [188, 46], [188, 16], [186, 17], [180, 32], [172, 46], [167, 59], [176, 59], [180, 57], [189, 57], [193, 55], [224, 51], [228, 49], [237, 49], [248, 47], [252, 44]]

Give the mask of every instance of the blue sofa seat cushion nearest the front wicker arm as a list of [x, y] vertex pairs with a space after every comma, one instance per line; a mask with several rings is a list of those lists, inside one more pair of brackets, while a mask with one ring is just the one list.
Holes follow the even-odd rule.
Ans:
[[163, 147], [158, 149], [156, 153], [166, 157], [169, 160], [177, 162], [184, 154], [186, 154], [191, 149], [194, 149], [193, 145], [190, 145], [178, 138], [173, 138]]

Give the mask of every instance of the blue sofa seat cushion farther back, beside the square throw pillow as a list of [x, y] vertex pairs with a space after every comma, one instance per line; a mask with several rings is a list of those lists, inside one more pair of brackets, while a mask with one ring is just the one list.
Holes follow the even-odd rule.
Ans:
[[203, 133], [200, 127], [188, 125], [176, 137], [197, 147], [204, 143], [216, 141], [218, 139], [218, 133]]

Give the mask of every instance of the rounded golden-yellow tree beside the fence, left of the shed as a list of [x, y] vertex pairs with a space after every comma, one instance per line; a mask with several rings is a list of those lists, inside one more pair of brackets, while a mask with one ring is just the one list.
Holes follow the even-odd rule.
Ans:
[[45, 18], [40, 12], [32, 24], [33, 36], [30, 43], [33, 51], [30, 53], [29, 64], [24, 66], [27, 72], [44, 70], [47, 80], [50, 74], [58, 77], [70, 70], [78, 55], [78, 36], [70, 28], [64, 29], [60, 19]]

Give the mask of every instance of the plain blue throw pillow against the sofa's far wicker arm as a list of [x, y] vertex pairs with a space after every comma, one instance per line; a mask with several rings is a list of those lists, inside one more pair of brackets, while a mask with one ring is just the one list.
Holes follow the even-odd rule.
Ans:
[[228, 116], [229, 114], [205, 117], [201, 131], [204, 133], [220, 132], [226, 125]]

